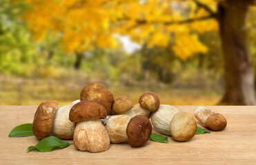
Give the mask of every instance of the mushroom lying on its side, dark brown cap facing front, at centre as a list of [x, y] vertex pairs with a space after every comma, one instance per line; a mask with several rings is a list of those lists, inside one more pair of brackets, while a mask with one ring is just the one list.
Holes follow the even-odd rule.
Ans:
[[104, 120], [110, 142], [129, 142], [130, 146], [143, 146], [152, 133], [150, 120], [144, 115], [112, 115]]

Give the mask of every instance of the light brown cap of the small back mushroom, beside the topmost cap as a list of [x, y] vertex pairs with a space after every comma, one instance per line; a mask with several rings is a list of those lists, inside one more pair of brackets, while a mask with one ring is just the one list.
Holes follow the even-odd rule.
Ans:
[[115, 113], [122, 113], [128, 111], [133, 106], [133, 102], [126, 96], [117, 96], [112, 104], [112, 111]]

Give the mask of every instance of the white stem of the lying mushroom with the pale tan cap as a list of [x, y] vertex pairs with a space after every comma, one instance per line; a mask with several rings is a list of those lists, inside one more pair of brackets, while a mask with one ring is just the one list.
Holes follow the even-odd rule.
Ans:
[[171, 105], [160, 104], [159, 109], [151, 115], [151, 123], [161, 133], [170, 135], [170, 121], [179, 112]]

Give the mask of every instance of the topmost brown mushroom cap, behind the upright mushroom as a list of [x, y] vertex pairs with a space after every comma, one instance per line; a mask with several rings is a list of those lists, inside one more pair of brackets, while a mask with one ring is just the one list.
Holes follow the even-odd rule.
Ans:
[[112, 103], [114, 101], [111, 91], [100, 83], [91, 83], [83, 87], [80, 94], [80, 100], [90, 100], [104, 105], [108, 114], [110, 114]]

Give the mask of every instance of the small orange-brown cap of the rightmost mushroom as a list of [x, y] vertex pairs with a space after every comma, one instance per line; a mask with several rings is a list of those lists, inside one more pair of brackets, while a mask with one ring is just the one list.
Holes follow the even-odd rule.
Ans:
[[213, 131], [225, 129], [226, 124], [226, 118], [220, 113], [211, 114], [206, 120], [206, 126]]

